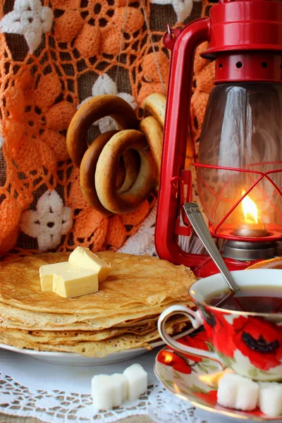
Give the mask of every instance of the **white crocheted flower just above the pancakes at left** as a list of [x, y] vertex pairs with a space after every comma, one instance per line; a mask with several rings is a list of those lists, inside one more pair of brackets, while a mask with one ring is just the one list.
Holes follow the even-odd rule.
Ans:
[[68, 233], [72, 223], [72, 209], [63, 206], [63, 201], [55, 190], [48, 190], [39, 198], [36, 212], [23, 212], [20, 228], [32, 238], [37, 238], [39, 251], [46, 251], [59, 245], [61, 235]]

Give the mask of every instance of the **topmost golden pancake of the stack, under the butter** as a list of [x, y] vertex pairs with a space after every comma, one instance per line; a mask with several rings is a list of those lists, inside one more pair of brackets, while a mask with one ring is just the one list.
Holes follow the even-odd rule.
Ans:
[[42, 292], [39, 267], [66, 262], [69, 253], [47, 253], [6, 259], [0, 262], [0, 302], [34, 312], [59, 314], [113, 314], [131, 309], [152, 309], [162, 302], [188, 300], [188, 288], [195, 276], [185, 266], [176, 266], [157, 257], [97, 253], [112, 271], [99, 291], [77, 298], [61, 298]]

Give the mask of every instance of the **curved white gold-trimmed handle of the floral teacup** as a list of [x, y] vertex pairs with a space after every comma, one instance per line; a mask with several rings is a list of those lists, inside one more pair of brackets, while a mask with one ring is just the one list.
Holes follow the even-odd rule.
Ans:
[[171, 348], [174, 348], [180, 353], [197, 355], [200, 357], [219, 361], [219, 356], [216, 353], [180, 344], [168, 335], [168, 333], [166, 332], [166, 320], [168, 319], [168, 317], [172, 317], [176, 314], [184, 314], [186, 317], [188, 317], [192, 323], [193, 328], [195, 329], [198, 329], [203, 324], [202, 317], [199, 311], [195, 312], [189, 307], [183, 307], [183, 305], [171, 305], [171, 307], [168, 307], [164, 310], [164, 312], [161, 313], [158, 320], [158, 329], [162, 340]]

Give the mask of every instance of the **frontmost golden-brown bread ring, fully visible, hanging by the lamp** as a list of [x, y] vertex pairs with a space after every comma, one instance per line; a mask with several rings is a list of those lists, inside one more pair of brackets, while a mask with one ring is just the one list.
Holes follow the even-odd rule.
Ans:
[[[127, 192], [117, 192], [116, 172], [121, 154], [135, 149], [140, 155], [140, 171]], [[133, 212], [157, 184], [157, 168], [145, 135], [138, 130], [121, 130], [107, 142], [97, 162], [95, 186], [100, 202], [112, 213]]]

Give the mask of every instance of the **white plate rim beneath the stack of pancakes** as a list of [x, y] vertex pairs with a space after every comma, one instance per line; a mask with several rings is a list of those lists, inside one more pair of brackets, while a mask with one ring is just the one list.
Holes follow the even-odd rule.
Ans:
[[[180, 333], [173, 338], [178, 339], [181, 336], [188, 335], [195, 329], [189, 329], [183, 333]], [[160, 347], [164, 345], [163, 341], [158, 341], [150, 344], [152, 348]], [[149, 351], [146, 348], [132, 348], [131, 350], [123, 350], [119, 353], [112, 353], [106, 355], [106, 357], [84, 357], [83, 355], [75, 353], [59, 353], [56, 351], [35, 351], [28, 350], [27, 348], [16, 348], [11, 345], [6, 345], [0, 343], [0, 348], [4, 350], [13, 351], [15, 353], [29, 355], [36, 360], [50, 363], [50, 364], [59, 364], [61, 366], [101, 366], [106, 364], [114, 364], [123, 361], [133, 360], [140, 355], [146, 354]]]

